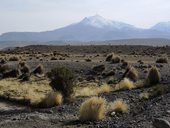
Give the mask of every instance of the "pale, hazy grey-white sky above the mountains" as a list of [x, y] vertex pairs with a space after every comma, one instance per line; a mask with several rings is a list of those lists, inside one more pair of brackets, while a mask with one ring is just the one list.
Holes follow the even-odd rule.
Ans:
[[96, 14], [149, 28], [170, 21], [170, 0], [0, 0], [0, 34], [54, 30]]

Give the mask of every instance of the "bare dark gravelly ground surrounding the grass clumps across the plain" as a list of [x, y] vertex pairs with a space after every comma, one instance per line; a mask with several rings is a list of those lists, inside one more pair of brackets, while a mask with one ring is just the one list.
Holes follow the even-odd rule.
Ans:
[[[43, 53], [57, 52], [62, 55], [57, 56], [57, 60], [51, 60], [51, 55], [44, 57]], [[21, 55], [27, 64], [33, 68], [41, 63], [46, 72], [55, 66], [64, 65], [72, 69], [77, 80], [98, 80], [109, 82], [110, 80], [119, 81], [122, 78], [125, 69], [122, 64], [113, 64], [106, 62], [105, 58], [108, 53], [115, 52], [122, 59], [133, 65], [139, 72], [139, 79], [145, 79], [147, 71], [151, 66], [156, 65], [161, 72], [161, 84], [170, 84], [170, 65], [157, 64], [156, 59], [161, 56], [169, 57], [170, 47], [148, 47], [148, 46], [29, 46], [9, 50], [5, 53], [6, 57]], [[31, 53], [24, 53], [31, 52]], [[36, 53], [39, 52], [39, 53]], [[3, 52], [4, 53], [4, 52]], [[68, 56], [64, 56], [67, 54]], [[30, 55], [37, 55], [37, 59]], [[60, 57], [64, 59], [60, 60]], [[40, 60], [42, 58], [42, 60]], [[86, 59], [90, 59], [87, 61]], [[143, 63], [138, 61], [142, 60]], [[18, 62], [9, 62], [10, 65], [16, 66]], [[103, 77], [102, 73], [93, 73], [92, 68], [96, 65], [104, 65], [103, 72], [113, 70], [115, 74], [110, 77]], [[157, 118], [170, 121], [170, 93], [141, 100], [139, 94], [146, 92], [150, 88], [138, 88], [125, 91], [117, 91], [100, 94], [107, 101], [114, 101], [122, 98], [130, 105], [130, 112], [126, 114], [106, 115], [106, 119], [98, 122], [81, 122], [79, 121], [79, 107], [88, 97], [77, 97], [71, 104], [63, 104], [46, 109], [35, 109], [24, 105], [18, 105], [7, 100], [0, 100], [0, 128], [57, 128], [57, 127], [113, 127], [113, 128], [154, 128], [153, 122]], [[159, 121], [156, 121], [159, 123]], [[161, 121], [160, 121], [161, 122]], [[158, 128], [163, 128], [161, 125]], [[166, 127], [165, 127], [166, 128]], [[168, 127], [169, 128], [169, 127]]]

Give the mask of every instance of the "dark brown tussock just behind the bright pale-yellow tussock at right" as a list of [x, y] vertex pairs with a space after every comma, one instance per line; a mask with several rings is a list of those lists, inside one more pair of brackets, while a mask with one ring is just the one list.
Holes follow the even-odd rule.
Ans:
[[128, 67], [123, 77], [129, 78], [130, 80], [135, 82], [138, 80], [138, 71], [134, 67]]

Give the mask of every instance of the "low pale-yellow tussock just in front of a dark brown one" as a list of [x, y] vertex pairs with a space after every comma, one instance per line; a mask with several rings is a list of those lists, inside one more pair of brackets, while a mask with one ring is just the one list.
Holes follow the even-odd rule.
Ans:
[[124, 78], [115, 87], [116, 90], [126, 90], [126, 89], [133, 89], [133, 88], [135, 88], [135, 85], [133, 81], [129, 80], [128, 78]]

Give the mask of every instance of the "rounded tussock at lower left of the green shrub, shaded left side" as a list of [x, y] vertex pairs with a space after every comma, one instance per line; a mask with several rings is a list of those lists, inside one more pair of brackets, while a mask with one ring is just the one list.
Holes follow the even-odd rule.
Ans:
[[41, 101], [40, 107], [53, 107], [55, 105], [60, 105], [63, 102], [63, 96], [60, 92], [49, 92], [46, 97]]

